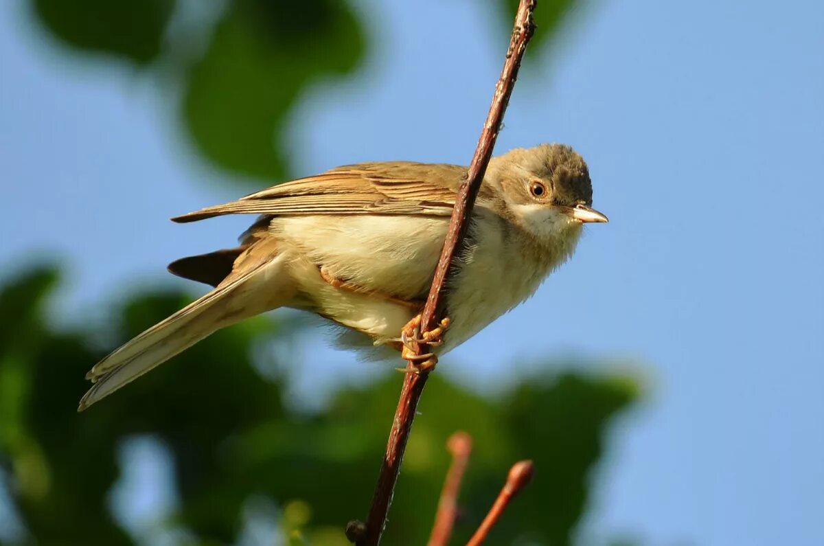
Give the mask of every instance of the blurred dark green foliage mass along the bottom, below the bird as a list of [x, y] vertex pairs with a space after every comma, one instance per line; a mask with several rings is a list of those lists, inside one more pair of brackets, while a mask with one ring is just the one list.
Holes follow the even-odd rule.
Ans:
[[[96, 332], [56, 332], [44, 304], [54, 270], [30, 271], [0, 291], [0, 464], [38, 544], [133, 544], [106, 499], [119, 477], [118, 447], [154, 435], [174, 459], [182, 526], [199, 544], [231, 543], [250, 498], [280, 507], [294, 544], [345, 544], [347, 520], [372, 497], [400, 374], [343, 388], [325, 411], [283, 403], [283, 382], [262, 377], [250, 347], [287, 337], [265, 319], [218, 332], [112, 398], [77, 414], [83, 375], [104, 354]], [[176, 293], [136, 294], [115, 309], [113, 343], [183, 304]], [[293, 363], [289, 363], [293, 365]], [[386, 544], [424, 544], [456, 430], [475, 441], [461, 496], [456, 540], [480, 522], [517, 459], [534, 459], [536, 479], [508, 511], [493, 542], [569, 544], [586, 508], [588, 473], [602, 454], [611, 417], [634, 398], [631, 382], [561, 374], [530, 378], [500, 398], [482, 398], [435, 374], [420, 406], [396, 490]], [[28, 544], [28, 542], [26, 542]]]

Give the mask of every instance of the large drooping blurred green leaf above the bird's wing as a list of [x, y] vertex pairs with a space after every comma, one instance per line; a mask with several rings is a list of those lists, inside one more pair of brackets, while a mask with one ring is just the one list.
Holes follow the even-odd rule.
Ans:
[[351, 71], [363, 40], [348, 2], [232, 2], [190, 73], [183, 113], [194, 144], [220, 167], [283, 179], [288, 112], [307, 83]]

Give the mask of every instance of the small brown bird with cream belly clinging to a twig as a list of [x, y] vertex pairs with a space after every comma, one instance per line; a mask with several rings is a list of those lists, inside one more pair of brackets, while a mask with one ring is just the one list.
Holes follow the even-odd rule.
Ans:
[[[175, 275], [214, 289], [97, 363], [79, 409], [218, 329], [279, 307], [317, 313], [371, 345], [402, 348], [399, 333], [423, 308], [465, 175], [457, 165], [361, 163], [174, 218], [260, 214], [239, 247], [170, 264]], [[531, 296], [572, 255], [582, 224], [607, 221], [591, 205], [587, 164], [569, 146], [492, 158], [469, 244], [446, 287], [451, 326], [436, 352]]]

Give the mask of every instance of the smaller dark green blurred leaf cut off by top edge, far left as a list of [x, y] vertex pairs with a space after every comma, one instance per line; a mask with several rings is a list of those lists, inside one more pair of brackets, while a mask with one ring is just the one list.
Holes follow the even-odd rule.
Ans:
[[32, 0], [63, 43], [148, 64], [160, 54], [176, 0]]

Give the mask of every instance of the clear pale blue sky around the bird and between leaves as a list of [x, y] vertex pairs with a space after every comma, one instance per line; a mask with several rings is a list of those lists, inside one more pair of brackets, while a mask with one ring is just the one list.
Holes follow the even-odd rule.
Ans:
[[[499, 21], [470, 0], [358, 7], [381, 47], [293, 115], [297, 174], [468, 162]], [[643, 378], [592, 477], [583, 542], [824, 544], [822, 24], [812, 0], [591, 2], [554, 50], [530, 52], [498, 149], [572, 144], [611, 223], [489, 327], [508, 344], [475, 338], [439, 370], [492, 388], [578, 355]], [[65, 261], [67, 320], [95, 318], [119, 287], [173, 282], [168, 261], [246, 224], [167, 221], [244, 191], [191, 152], [151, 76], [52, 47], [19, 0], [0, 11], [0, 68], [0, 276]], [[312, 360], [296, 396], [375, 371], [328, 348]]]

